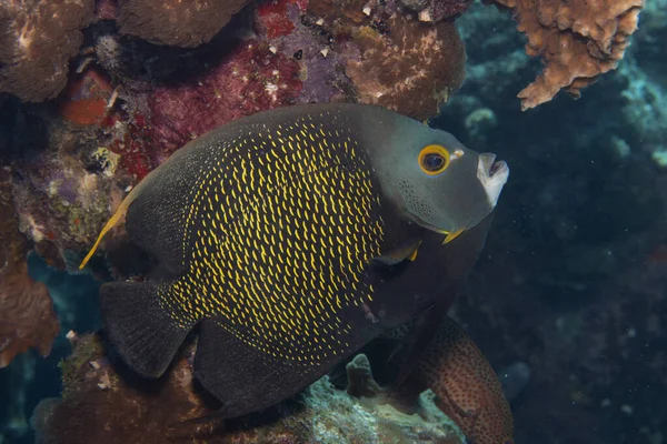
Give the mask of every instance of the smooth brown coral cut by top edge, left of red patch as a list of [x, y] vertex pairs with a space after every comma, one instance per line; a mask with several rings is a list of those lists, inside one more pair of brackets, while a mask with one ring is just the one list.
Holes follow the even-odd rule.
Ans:
[[123, 34], [156, 44], [195, 48], [225, 27], [247, 0], [122, 0], [118, 24]]

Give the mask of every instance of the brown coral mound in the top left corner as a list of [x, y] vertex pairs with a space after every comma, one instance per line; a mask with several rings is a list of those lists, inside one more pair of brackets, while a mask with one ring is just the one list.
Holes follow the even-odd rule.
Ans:
[[0, 3], [0, 91], [27, 102], [56, 98], [67, 84], [80, 29], [92, 19], [93, 0], [6, 0]]

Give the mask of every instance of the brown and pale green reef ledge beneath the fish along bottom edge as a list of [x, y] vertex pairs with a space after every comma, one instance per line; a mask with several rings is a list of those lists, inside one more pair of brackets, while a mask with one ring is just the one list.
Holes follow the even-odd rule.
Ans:
[[[422, 416], [408, 415], [386, 400], [351, 396], [328, 377], [263, 420], [255, 415], [222, 424], [215, 416], [216, 403], [193, 385], [193, 344], [165, 379], [148, 382], [122, 367], [117, 372], [99, 335], [73, 336], [72, 342], [73, 352], [62, 363], [62, 400], [44, 400], [34, 411], [41, 443], [462, 443], [456, 426], [438, 415], [432, 397], [420, 397]], [[357, 385], [372, 381], [370, 370], [366, 374]]]

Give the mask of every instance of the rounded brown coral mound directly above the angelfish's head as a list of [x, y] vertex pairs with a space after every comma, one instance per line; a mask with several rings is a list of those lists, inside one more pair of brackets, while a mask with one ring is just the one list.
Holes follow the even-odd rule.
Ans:
[[359, 102], [419, 120], [432, 117], [466, 73], [466, 50], [454, 22], [426, 23], [365, 3], [311, 0], [308, 12], [338, 42], [334, 53], [347, 54], [341, 64]]

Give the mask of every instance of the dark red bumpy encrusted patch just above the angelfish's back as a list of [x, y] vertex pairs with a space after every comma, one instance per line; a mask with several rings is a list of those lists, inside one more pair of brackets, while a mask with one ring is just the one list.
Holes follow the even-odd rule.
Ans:
[[299, 63], [248, 40], [209, 72], [148, 94], [151, 145], [165, 158], [219, 125], [290, 104], [301, 90]]

